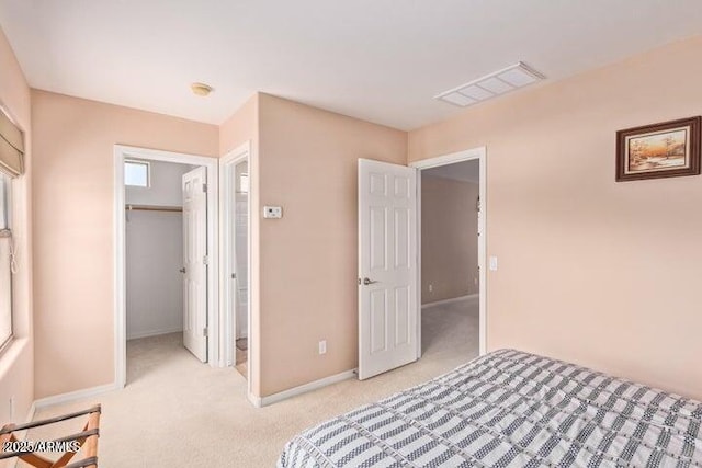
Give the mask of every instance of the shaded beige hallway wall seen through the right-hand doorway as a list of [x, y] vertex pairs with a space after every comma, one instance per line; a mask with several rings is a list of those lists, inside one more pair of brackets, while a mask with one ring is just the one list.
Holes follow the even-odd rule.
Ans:
[[422, 175], [421, 304], [477, 294], [477, 199], [476, 183]]

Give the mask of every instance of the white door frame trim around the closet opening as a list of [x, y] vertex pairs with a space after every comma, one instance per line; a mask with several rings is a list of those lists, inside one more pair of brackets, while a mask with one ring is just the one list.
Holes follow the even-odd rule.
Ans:
[[[117, 388], [126, 384], [126, 232], [124, 160], [129, 158], [151, 161], [204, 165], [207, 173], [207, 362], [219, 363], [219, 232], [218, 232], [218, 164], [217, 158], [162, 151], [125, 145], [114, 145], [114, 381]], [[212, 214], [212, 215], [210, 215]]]

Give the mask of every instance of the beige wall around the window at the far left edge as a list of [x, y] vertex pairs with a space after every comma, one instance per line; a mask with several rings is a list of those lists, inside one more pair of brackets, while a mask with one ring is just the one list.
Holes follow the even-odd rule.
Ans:
[[[34, 401], [34, 340], [32, 330], [32, 122], [30, 88], [8, 39], [0, 30], [0, 105], [24, 130], [23, 176], [12, 182], [12, 229], [18, 252], [13, 276], [13, 332], [15, 340], [0, 355], [0, 421], [22, 422]], [[14, 413], [10, 399], [14, 400]]]

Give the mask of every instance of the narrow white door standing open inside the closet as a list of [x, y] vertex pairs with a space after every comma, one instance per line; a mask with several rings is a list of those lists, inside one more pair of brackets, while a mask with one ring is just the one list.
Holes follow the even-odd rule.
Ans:
[[183, 344], [207, 361], [206, 169], [183, 174]]

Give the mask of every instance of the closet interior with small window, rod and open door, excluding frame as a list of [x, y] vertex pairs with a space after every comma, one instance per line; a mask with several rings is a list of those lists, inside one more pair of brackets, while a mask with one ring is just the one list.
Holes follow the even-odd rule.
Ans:
[[129, 383], [173, 358], [207, 361], [207, 210], [203, 167], [128, 159], [124, 183]]

